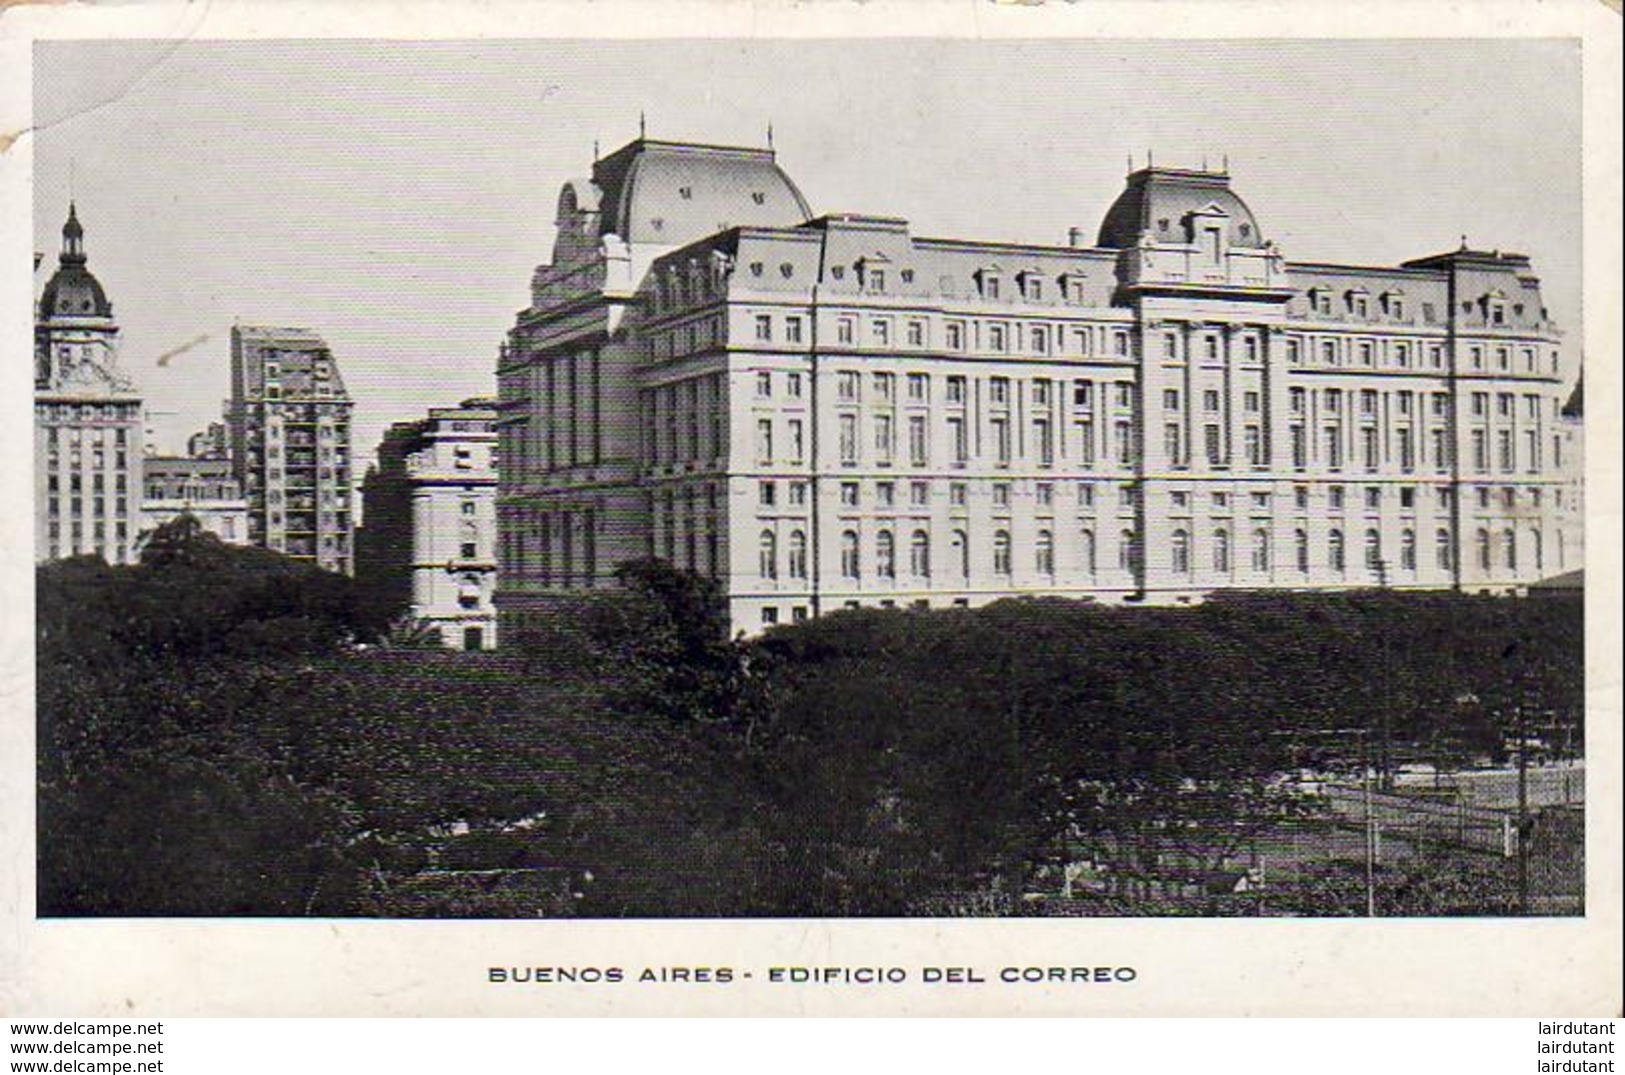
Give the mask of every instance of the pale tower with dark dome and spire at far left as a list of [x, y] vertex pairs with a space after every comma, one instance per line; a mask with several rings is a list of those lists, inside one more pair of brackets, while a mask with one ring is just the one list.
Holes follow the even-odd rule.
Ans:
[[141, 396], [86, 266], [76, 206], [34, 320], [34, 559], [133, 563], [141, 523]]

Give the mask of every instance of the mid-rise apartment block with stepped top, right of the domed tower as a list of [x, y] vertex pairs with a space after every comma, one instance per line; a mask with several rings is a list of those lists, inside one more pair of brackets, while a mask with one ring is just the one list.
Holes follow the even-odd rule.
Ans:
[[351, 573], [353, 406], [333, 352], [310, 330], [231, 330], [226, 424], [250, 544]]

